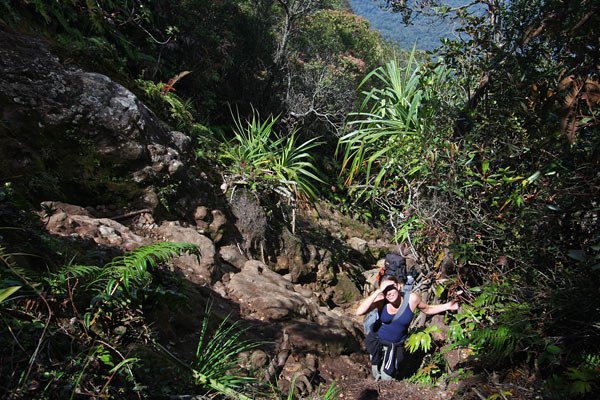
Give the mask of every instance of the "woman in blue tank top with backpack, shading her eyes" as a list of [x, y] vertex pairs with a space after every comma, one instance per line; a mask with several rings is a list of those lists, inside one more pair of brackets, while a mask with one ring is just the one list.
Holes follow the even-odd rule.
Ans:
[[[390, 265], [397, 266], [402, 261], [404, 261], [403, 257], [398, 254], [386, 256], [386, 268], [379, 279], [379, 288], [363, 300], [356, 309], [357, 316], [368, 314], [375, 309], [378, 312], [378, 320], [372, 325], [365, 338], [375, 380], [395, 379], [400, 362], [404, 358], [404, 342], [408, 337], [408, 326], [417, 308], [427, 315], [458, 310], [458, 303], [455, 301], [429, 305], [416, 293], [407, 290], [402, 294], [404, 285], [400, 281], [406, 274], [402, 276], [402, 273], [397, 272], [402, 268], [389, 268]], [[397, 275], [400, 275], [400, 278]]]

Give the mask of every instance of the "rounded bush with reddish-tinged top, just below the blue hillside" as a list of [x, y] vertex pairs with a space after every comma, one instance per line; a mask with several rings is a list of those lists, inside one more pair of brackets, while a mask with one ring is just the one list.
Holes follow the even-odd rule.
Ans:
[[358, 82], [383, 59], [381, 37], [366, 20], [336, 10], [308, 15], [296, 28], [284, 104], [294, 121], [332, 142], [356, 106]]

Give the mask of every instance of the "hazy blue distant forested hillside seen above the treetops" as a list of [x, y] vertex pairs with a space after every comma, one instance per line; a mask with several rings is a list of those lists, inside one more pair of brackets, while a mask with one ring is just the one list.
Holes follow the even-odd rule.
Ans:
[[[349, 0], [352, 10], [369, 20], [388, 40], [396, 41], [401, 48], [410, 49], [415, 45], [421, 50], [433, 50], [440, 45], [440, 38], [453, 35], [452, 21], [434, 21], [419, 17], [412, 25], [406, 26], [399, 14], [385, 9], [384, 0]], [[466, 3], [465, 0], [447, 1], [451, 5]]]

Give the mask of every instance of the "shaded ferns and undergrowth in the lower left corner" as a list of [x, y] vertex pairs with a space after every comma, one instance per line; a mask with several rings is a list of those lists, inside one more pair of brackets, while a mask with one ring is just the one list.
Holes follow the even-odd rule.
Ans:
[[[167, 387], [169, 377], [181, 372], [188, 377], [180, 381], [183, 387], [202, 379], [204, 385], [225, 390], [210, 368], [193, 378], [193, 366], [169, 363], [147, 329], [145, 313], [184, 306], [186, 290], [165, 274], [164, 267], [179, 255], [198, 255], [196, 246], [158, 242], [98, 266], [98, 254], [81, 254], [75, 244], [36, 227], [41, 221], [22, 210], [10, 190], [3, 189], [0, 196], [0, 213], [21, 220], [18, 230], [2, 228], [3, 242], [20, 239], [19, 250], [30, 251], [0, 248], [0, 310], [6, 327], [0, 343], [3, 349], [19, 349], [18, 354], [3, 351], [0, 358], [6, 398], [140, 398], [140, 393]], [[15, 222], [9, 219], [5, 223]], [[37, 254], [47, 257], [45, 266], [36, 263]], [[63, 255], [71, 261], [61, 264]], [[202, 338], [205, 347], [206, 342], [218, 343], [212, 331]], [[153, 347], [156, 352], [149, 352]], [[231, 346], [222, 348], [232, 351]], [[138, 372], [158, 374], [157, 368], [164, 379], [158, 386]]]

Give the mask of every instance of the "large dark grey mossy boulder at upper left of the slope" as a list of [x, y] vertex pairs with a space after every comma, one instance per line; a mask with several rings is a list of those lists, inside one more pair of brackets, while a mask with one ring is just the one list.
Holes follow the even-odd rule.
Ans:
[[165, 187], [201, 180], [183, 179], [189, 137], [124, 86], [62, 62], [40, 37], [0, 24], [0, 71], [0, 168], [32, 196], [154, 209]]

